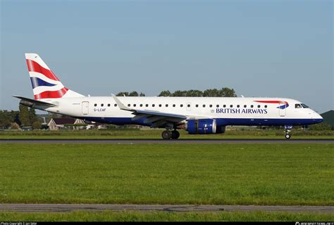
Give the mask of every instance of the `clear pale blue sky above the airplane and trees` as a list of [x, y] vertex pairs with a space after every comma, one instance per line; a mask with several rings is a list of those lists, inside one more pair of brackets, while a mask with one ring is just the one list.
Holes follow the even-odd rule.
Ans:
[[85, 95], [228, 86], [334, 108], [332, 1], [0, 2], [0, 109], [33, 97], [26, 52]]

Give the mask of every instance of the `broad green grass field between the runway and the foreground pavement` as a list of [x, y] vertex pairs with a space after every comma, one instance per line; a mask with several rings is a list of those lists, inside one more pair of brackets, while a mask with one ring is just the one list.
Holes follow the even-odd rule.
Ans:
[[0, 144], [0, 203], [334, 205], [334, 144]]

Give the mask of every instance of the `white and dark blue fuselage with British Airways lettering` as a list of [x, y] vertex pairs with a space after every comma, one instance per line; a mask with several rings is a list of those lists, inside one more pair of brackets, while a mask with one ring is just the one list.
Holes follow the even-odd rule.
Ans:
[[[118, 97], [127, 107], [159, 113], [185, 115], [186, 120], [213, 118], [217, 126], [225, 125], [304, 125], [323, 118], [310, 108], [298, 108], [290, 98], [211, 98], [211, 97]], [[95, 122], [141, 124], [132, 120], [132, 112], [121, 110], [113, 97], [76, 97], [44, 100], [54, 107], [39, 108]], [[186, 122], [186, 120], [184, 122]]]

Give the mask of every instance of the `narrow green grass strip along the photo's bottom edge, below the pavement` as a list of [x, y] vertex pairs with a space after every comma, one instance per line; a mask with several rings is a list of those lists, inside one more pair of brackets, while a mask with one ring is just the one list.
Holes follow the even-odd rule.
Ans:
[[333, 221], [333, 214], [285, 212], [0, 212], [0, 221]]

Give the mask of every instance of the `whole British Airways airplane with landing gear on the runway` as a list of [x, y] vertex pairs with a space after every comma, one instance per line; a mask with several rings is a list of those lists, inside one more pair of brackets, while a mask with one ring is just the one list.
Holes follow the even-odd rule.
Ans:
[[290, 98], [83, 96], [61, 83], [36, 53], [25, 53], [35, 99], [20, 104], [49, 113], [105, 124], [139, 124], [166, 129], [163, 139], [189, 134], [223, 134], [226, 126], [284, 126], [323, 121], [309, 106]]

